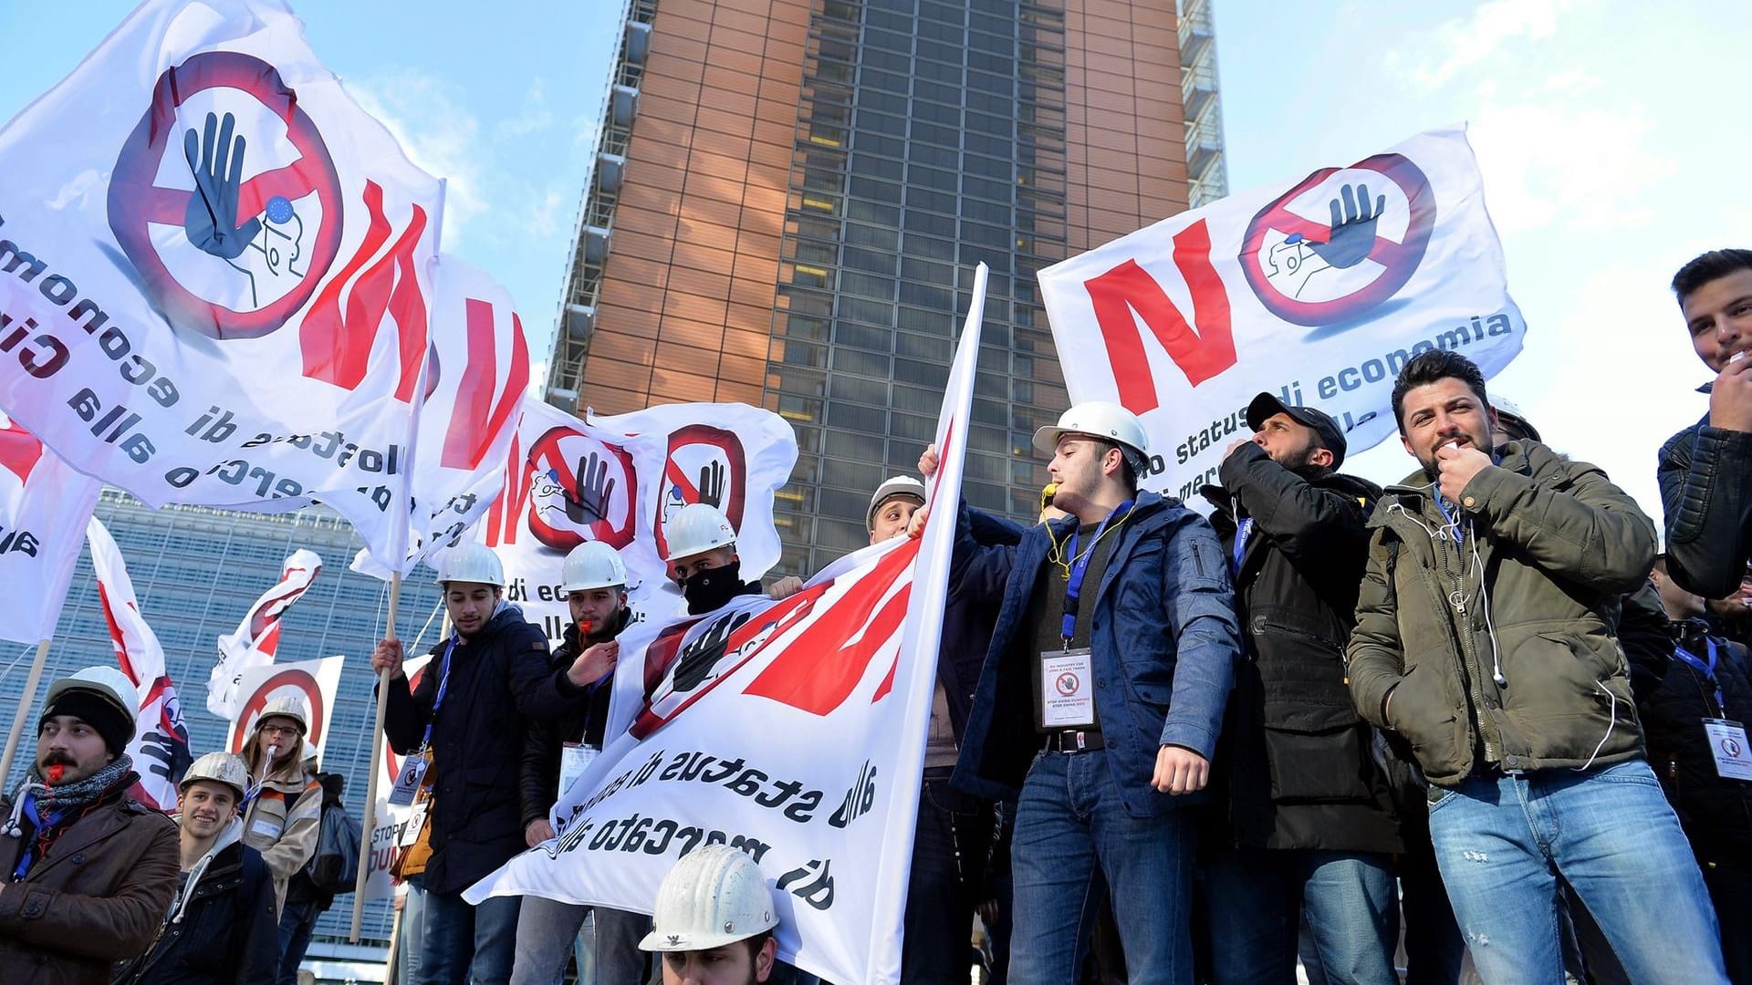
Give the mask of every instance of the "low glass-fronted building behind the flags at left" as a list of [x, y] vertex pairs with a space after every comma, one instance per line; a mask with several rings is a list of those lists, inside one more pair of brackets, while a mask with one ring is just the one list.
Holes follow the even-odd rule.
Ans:
[[[256, 598], [280, 580], [280, 563], [287, 554], [303, 547], [322, 557], [322, 573], [280, 622], [277, 663], [336, 654], [347, 657], [340, 694], [329, 708], [322, 768], [347, 776], [347, 810], [363, 818], [375, 715], [370, 655], [384, 634], [387, 591], [384, 582], [347, 570], [364, 545], [352, 526], [322, 507], [293, 514], [203, 507], [149, 510], [116, 489], [102, 492], [96, 517], [116, 538], [140, 612], [165, 648], [165, 668], [177, 685], [194, 755], [224, 748], [230, 731], [230, 722], [207, 712], [207, 675], [217, 657], [217, 638], [237, 629]], [[431, 571], [419, 568], [403, 580], [398, 634], [413, 641], [424, 627], [424, 645], [431, 645], [440, 633], [440, 622], [429, 622], [436, 606], [438, 587], [431, 584]], [[89, 552], [81, 552], [35, 694], [23, 694], [35, 647], [0, 647], [0, 722], [5, 726], [12, 724], [19, 698], [32, 701], [40, 713], [54, 678], [84, 666], [116, 666]], [[33, 726], [26, 726], [19, 741], [7, 790], [16, 789], [35, 755]], [[359, 945], [345, 943], [350, 924], [350, 896], [338, 897], [317, 920], [308, 960], [322, 973], [319, 981], [382, 980], [389, 904], [366, 904]], [[375, 978], [370, 978], [373, 971]]]

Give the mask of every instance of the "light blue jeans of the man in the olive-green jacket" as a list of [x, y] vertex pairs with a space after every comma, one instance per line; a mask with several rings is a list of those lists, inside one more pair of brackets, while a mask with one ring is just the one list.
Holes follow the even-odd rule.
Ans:
[[1487, 983], [1563, 983], [1559, 873], [1633, 981], [1727, 981], [1691, 845], [1640, 759], [1470, 776], [1430, 803], [1430, 836]]

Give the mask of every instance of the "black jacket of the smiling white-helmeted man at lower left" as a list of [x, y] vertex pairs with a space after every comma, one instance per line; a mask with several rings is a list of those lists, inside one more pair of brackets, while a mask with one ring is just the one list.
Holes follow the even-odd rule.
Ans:
[[280, 920], [261, 852], [242, 841], [221, 848], [194, 883], [182, 920], [168, 920], [151, 950], [117, 969], [116, 985], [273, 981]]

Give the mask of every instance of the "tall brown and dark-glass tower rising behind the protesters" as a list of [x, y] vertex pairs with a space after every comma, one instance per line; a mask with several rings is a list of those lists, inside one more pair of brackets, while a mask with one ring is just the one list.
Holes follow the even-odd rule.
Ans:
[[913, 471], [986, 263], [965, 496], [1032, 517], [1035, 273], [1188, 207], [1179, 42], [1174, 0], [632, 0], [548, 400], [781, 414], [809, 573]]

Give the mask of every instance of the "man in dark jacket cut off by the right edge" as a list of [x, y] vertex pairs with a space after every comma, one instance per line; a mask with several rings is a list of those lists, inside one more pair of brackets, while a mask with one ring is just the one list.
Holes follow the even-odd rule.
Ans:
[[1710, 412], [1661, 449], [1668, 573], [1706, 599], [1734, 594], [1752, 557], [1752, 251], [1710, 251], [1673, 275], [1691, 347], [1715, 379]]

